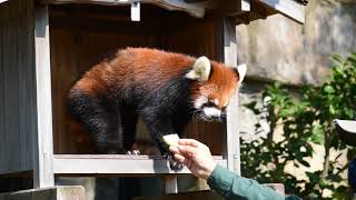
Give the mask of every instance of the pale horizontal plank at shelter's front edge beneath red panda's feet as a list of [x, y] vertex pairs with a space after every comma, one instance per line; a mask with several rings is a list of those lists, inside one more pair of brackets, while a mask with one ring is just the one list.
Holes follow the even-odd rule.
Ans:
[[[214, 157], [215, 161], [227, 167], [221, 157]], [[56, 174], [189, 174], [184, 168], [175, 172], [164, 157], [123, 156], [123, 154], [55, 154], [53, 172]]]

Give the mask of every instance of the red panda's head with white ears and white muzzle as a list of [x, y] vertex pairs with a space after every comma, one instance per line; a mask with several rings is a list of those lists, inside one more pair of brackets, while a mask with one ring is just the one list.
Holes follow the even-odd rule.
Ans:
[[197, 80], [191, 87], [192, 104], [198, 116], [205, 120], [218, 120], [241, 83], [246, 66], [237, 69], [209, 61], [206, 57], [196, 60], [186, 77]]

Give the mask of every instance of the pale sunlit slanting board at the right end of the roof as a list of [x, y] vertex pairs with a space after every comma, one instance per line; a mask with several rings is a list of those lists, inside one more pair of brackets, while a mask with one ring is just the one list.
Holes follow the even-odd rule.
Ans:
[[305, 6], [301, 3], [294, 0], [260, 0], [260, 2], [298, 23], [305, 23]]

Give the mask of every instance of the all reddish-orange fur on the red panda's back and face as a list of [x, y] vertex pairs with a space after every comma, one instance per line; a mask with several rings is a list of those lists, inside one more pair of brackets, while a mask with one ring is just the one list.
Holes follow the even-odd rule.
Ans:
[[[89, 70], [75, 88], [88, 94], [109, 92], [107, 89], [129, 89], [135, 83], [147, 90], [157, 90], [174, 77], [192, 67], [195, 58], [147, 48], [127, 48], [116, 53], [115, 59], [105, 60]], [[231, 99], [237, 87], [238, 77], [231, 68], [211, 61], [212, 74], [205, 83], [191, 87], [192, 99], [201, 94], [209, 99], [218, 99], [219, 108]]]

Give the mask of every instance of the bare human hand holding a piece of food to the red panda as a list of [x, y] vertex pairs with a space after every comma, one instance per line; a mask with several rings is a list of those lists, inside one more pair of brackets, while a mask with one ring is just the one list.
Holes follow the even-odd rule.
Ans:
[[216, 167], [210, 149], [194, 139], [179, 139], [178, 144], [169, 147], [175, 159], [184, 163], [194, 176], [207, 180]]

